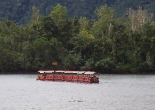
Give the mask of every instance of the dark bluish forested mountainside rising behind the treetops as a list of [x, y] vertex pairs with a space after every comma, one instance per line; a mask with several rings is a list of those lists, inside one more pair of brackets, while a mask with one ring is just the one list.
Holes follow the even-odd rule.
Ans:
[[58, 3], [67, 8], [69, 18], [97, 19], [94, 11], [105, 4], [116, 11], [117, 18], [127, 17], [130, 8], [137, 10], [139, 6], [149, 13], [155, 13], [154, 0], [0, 0], [0, 20], [7, 18], [25, 25], [30, 21], [33, 6], [39, 9], [40, 14], [47, 16]]

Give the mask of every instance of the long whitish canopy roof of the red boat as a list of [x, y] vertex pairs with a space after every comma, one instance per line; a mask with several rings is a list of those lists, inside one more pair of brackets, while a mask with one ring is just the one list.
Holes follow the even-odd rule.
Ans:
[[39, 70], [41, 74], [44, 73], [64, 73], [64, 74], [96, 74], [94, 71], [64, 71], [64, 70]]

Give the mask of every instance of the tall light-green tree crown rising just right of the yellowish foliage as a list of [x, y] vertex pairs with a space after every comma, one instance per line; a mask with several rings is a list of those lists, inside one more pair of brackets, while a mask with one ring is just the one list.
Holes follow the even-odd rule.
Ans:
[[103, 38], [110, 36], [114, 12], [115, 11], [107, 5], [101, 6], [95, 11], [98, 16], [98, 21], [94, 23], [92, 33], [96, 37]]

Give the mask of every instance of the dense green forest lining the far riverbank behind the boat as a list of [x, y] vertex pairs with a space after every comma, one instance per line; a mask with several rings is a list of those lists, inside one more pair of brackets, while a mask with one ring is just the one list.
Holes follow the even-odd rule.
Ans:
[[96, 20], [70, 18], [67, 7], [57, 4], [48, 15], [33, 6], [26, 25], [2, 19], [1, 72], [52, 69], [52, 62], [58, 63], [56, 69], [65, 70], [155, 71], [153, 14], [139, 7], [116, 18], [116, 10], [108, 5], [92, 12]]

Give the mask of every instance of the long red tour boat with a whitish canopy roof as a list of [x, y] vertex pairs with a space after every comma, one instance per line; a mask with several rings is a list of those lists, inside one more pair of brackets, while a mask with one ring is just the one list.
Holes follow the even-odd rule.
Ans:
[[99, 83], [99, 77], [94, 71], [63, 71], [63, 70], [39, 70], [37, 80], [42, 81], [66, 81], [80, 83]]

